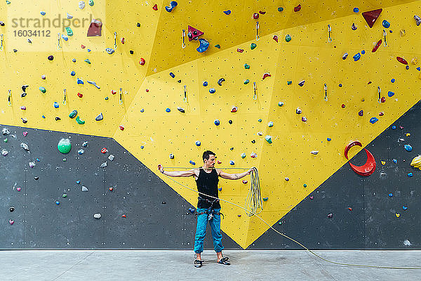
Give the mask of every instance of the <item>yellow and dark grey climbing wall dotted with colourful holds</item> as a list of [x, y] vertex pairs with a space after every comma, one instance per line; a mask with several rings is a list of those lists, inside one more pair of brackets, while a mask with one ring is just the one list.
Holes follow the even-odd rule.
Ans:
[[[349, 244], [346, 235], [342, 244], [323, 235], [302, 237], [304, 244], [407, 246], [396, 244], [401, 237], [376, 240], [384, 234], [373, 230], [369, 213], [383, 201], [368, 204], [363, 197], [377, 185], [392, 185], [375, 181], [388, 174], [386, 166], [406, 177], [413, 169], [410, 155], [376, 154], [367, 145], [409, 149], [401, 150], [406, 135], [399, 142], [376, 140], [387, 138], [382, 134], [420, 100], [420, 2], [260, 2], [1, 4], [0, 150], [7, 181], [0, 200], [9, 236], [0, 246], [190, 249], [197, 194], [187, 188], [196, 188], [194, 180], [172, 181], [156, 166], [192, 169], [203, 163], [204, 150], [213, 150], [217, 167], [228, 173], [258, 167], [260, 216], [269, 225], [295, 233], [309, 218], [297, 209], [323, 214], [309, 235], [325, 224], [338, 231], [348, 216], [356, 225], [349, 224]], [[409, 120], [408, 126], [417, 124]], [[86, 138], [95, 145], [83, 146]], [[361, 143], [349, 150], [354, 164], [365, 162], [364, 147], [374, 155], [377, 169], [368, 177], [349, 169], [344, 149], [352, 141]], [[119, 145], [109, 150], [111, 142]], [[415, 157], [417, 146], [411, 151]], [[419, 172], [413, 169], [413, 182], [419, 183]], [[83, 177], [95, 188], [83, 185]], [[248, 182], [221, 178], [220, 197], [243, 206], [250, 178], [243, 179]], [[352, 181], [359, 182], [358, 192]], [[403, 178], [393, 184], [410, 186]], [[349, 201], [316, 195], [338, 185]], [[413, 195], [396, 186], [402, 197]], [[358, 207], [335, 215], [352, 202]], [[408, 202], [416, 203], [396, 202], [407, 209], [390, 207], [394, 212], [376, 213], [377, 220], [402, 223], [411, 214]], [[268, 237], [267, 224], [232, 204], [222, 202], [222, 212], [227, 247], [296, 247]], [[292, 218], [295, 228], [281, 226]], [[60, 223], [46, 227], [51, 220]], [[79, 231], [73, 223], [85, 227]], [[156, 232], [175, 236], [164, 243]], [[109, 237], [113, 233], [120, 236]]]

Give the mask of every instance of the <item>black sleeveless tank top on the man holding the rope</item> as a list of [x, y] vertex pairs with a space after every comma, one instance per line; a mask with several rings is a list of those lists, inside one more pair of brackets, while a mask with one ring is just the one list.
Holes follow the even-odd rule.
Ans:
[[[216, 169], [212, 169], [210, 173], [206, 173], [204, 169], [199, 169], [199, 177], [196, 179], [197, 191], [205, 193], [207, 195], [218, 198], [218, 173]], [[210, 202], [213, 202], [215, 198], [208, 197], [206, 195], [199, 194], [199, 197], [205, 198]], [[197, 202], [197, 207], [201, 209], [208, 209], [212, 204], [206, 200], [200, 200]], [[213, 209], [219, 209], [221, 207], [219, 202], [215, 202], [212, 205]]]

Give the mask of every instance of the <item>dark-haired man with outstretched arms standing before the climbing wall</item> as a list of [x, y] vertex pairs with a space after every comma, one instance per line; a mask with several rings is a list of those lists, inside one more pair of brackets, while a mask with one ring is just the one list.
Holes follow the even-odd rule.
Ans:
[[[222, 235], [221, 235], [221, 206], [218, 199], [218, 181], [221, 178], [228, 180], [236, 180], [250, 175], [253, 169], [249, 169], [241, 174], [227, 174], [221, 169], [215, 169], [216, 155], [210, 150], [203, 152], [203, 166], [190, 171], [164, 171], [161, 164], [158, 165], [159, 171], [166, 176], [194, 176], [196, 180], [197, 190], [206, 195], [199, 194], [199, 202], [197, 202], [197, 227], [196, 237], [194, 238], [194, 266], [200, 268], [202, 266], [201, 253], [203, 251], [203, 240], [206, 235], [206, 225], [210, 224], [210, 230], [213, 238], [213, 248], [217, 255], [217, 262], [229, 265], [228, 257], [222, 257]], [[215, 198], [217, 199], [215, 199]]]

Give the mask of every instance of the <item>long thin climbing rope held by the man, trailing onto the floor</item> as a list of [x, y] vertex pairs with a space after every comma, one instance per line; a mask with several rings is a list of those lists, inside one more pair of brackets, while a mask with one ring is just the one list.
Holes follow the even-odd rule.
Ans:
[[[203, 169], [203, 167], [199, 167], [199, 168], [192, 168], [192, 167], [166, 167], [166, 169]], [[208, 168], [208, 169], [216, 169], [216, 168]], [[240, 170], [248, 170], [248, 168], [219, 168], [218, 169], [240, 169]], [[257, 193], [258, 196], [260, 196], [260, 184], [259, 184], [259, 180], [258, 180], [258, 169], [256, 167], [253, 167], [253, 171], [256, 172], [256, 174], [253, 176], [253, 172], [250, 174], [250, 178], [251, 178], [251, 183], [250, 185], [254, 185], [254, 186], [250, 186], [250, 191], [249, 191], [249, 195], [250, 193], [252, 193], [250, 195], [250, 197], [252, 197], [253, 199], [250, 199], [250, 211], [248, 211], [247, 207], [248, 207], [248, 200], [246, 201], [246, 207], [241, 207], [233, 202], [227, 201], [227, 200], [223, 200], [221, 198], [218, 198], [220, 201], [226, 202], [228, 204], [232, 204], [236, 207], [239, 207], [240, 209], [243, 209], [244, 211], [246, 211], [246, 214], [251, 214], [250, 216], [256, 216], [257, 218], [259, 218], [263, 223], [265, 223], [269, 228], [271, 228], [272, 230], [274, 230], [274, 232], [278, 233], [279, 235], [282, 235], [283, 237], [286, 237], [287, 239], [297, 243], [298, 245], [300, 245], [300, 247], [302, 247], [303, 249], [305, 249], [306, 251], [308, 251], [310, 254], [313, 254], [314, 256], [316, 256], [317, 258], [326, 261], [328, 263], [333, 263], [339, 266], [348, 266], [348, 267], [357, 267], [357, 268], [385, 268], [385, 269], [421, 269], [421, 267], [417, 267], [417, 268], [404, 268], [404, 267], [399, 267], [399, 266], [370, 266], [370, 265], [364, 265], [364, 264], [352, 264], [352, 263], [338, 263], [336, 261], [330, 261], [328, 259], [323, 258], [322, 256], [319, 256], [318, 254], [314, 253], [314, 251], [308, 249], [307, 247], [305, 247], [305, 245], [301, 244], [300, 242], [298, 242], [297, 240], [294, 240], [291, 237], [288, 237], [287, 235], [280, 233], [278, 230], [276, 230], [275, 228], [273, 228], [271, 225], [269, 225], [269, 223], [267, 223], [267, 221], [265, 221], [262, 217], [258, 216], [258, 214], [255, 213], [255, 211], [258, 209], [256, 206], [257, 204], [253, 204], [253, 202], [257, 202]], [[199, 192], [197, 190], [193, 190], [192, 188], [187, 187], [186, 185], [183, 185], [182, 183], [179, 183], [178, 181], [175, 181], [173, 178], [171, 178], [170, 176], [167, 176], [165, 174], [163, 174], [164, 176], [166, 176], [167, 178], [169, 178], [171, 181], [178, 183], [179, 185], [181, 185], [184, 188], [187, 188], [188, 190], [192, 190], [198, 194], [201, 195], [206, 195], [208, 197], [217, 199], [217, 197], [213, 197], [211, 195], [207, 195], [203, 192]], [[255, 190], [258, 189], [258, 192], [256, 192]], [[254, 195], [253, 195], [254, 192]], [[247, 197], [249, 197], [249, 195]], [[261, 202], [260, 202], [261, 204]], [[261, 207], [261, 206], [260, 206]], [[254, 212], [253, 212], [254, 211]]]

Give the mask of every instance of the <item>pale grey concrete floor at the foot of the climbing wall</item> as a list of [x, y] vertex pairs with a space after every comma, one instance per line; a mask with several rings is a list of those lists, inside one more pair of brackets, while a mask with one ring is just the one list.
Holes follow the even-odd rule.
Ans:
[[[421, 267], [421, 251], [316, 251], [325, 259], [377, 266]], [[227, 250], [231, 266], [206, 250], [202, 268], [193, 251], [0, 251], [0, 280], [421, 280], [421, 270], [349, 268], [307, 251]]]

